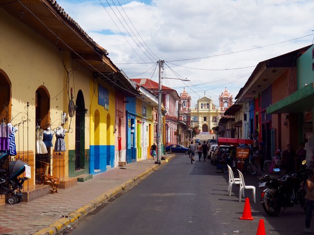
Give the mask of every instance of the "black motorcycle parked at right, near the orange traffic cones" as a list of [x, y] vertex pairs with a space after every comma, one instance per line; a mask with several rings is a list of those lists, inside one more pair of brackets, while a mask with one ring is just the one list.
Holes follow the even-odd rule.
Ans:
[[[302, 162], [305, 165], [307, 160]], [[280, 171], [278, 168], [275, 172]], [[311, 169], [299, 170], [279, 178], [269, 175], [259, 177], [259, 188], [265, 188], [261, 194], [261, 204], [269, 216], [277, 216], [281, 209], [300, 204], [305, 210], [305, 182]]]

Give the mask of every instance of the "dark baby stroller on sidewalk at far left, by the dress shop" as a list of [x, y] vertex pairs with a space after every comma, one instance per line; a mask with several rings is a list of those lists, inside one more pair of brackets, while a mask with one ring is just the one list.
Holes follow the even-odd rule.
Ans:
[[0, 178], [0, 192], [5, 194], [6, 203], [15, 204], [23, 199], [23, 183], [27, 178], [20, 177], [19, 175], [25, 171], [25, 162], [21, 160], [10, 161], [8, 164], [8, 175]]

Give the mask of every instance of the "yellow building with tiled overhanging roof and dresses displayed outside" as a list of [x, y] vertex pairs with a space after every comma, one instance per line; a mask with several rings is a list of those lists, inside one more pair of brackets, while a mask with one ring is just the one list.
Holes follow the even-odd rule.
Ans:
[[[49, 193], [42, 184], [52, 177], [66, 188], [95, 173], [94, 146], [110, 155], [99, 168], [113, 167], [116, 92], [138, 93], [108, 52], [53, 1], [2, 4], [0, 25], [0, 118], [17, 129], [10, 160], [31, 166], [25, 200]], [[106, 102], [99, 102], [102, 95]]]

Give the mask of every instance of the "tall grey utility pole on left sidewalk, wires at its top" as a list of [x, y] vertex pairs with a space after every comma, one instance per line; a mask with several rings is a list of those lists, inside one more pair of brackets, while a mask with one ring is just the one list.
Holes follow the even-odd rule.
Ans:
[[161, 77], [161, 69], [163, 69], [163, 60], [158, 60], [158, 68], [159, 68], [159, 88], [158, 88], [158, 123], [157, 123], [157, 161], [155, 164], [161, 164], [161, 85], [162, 85], [162, 77]]

